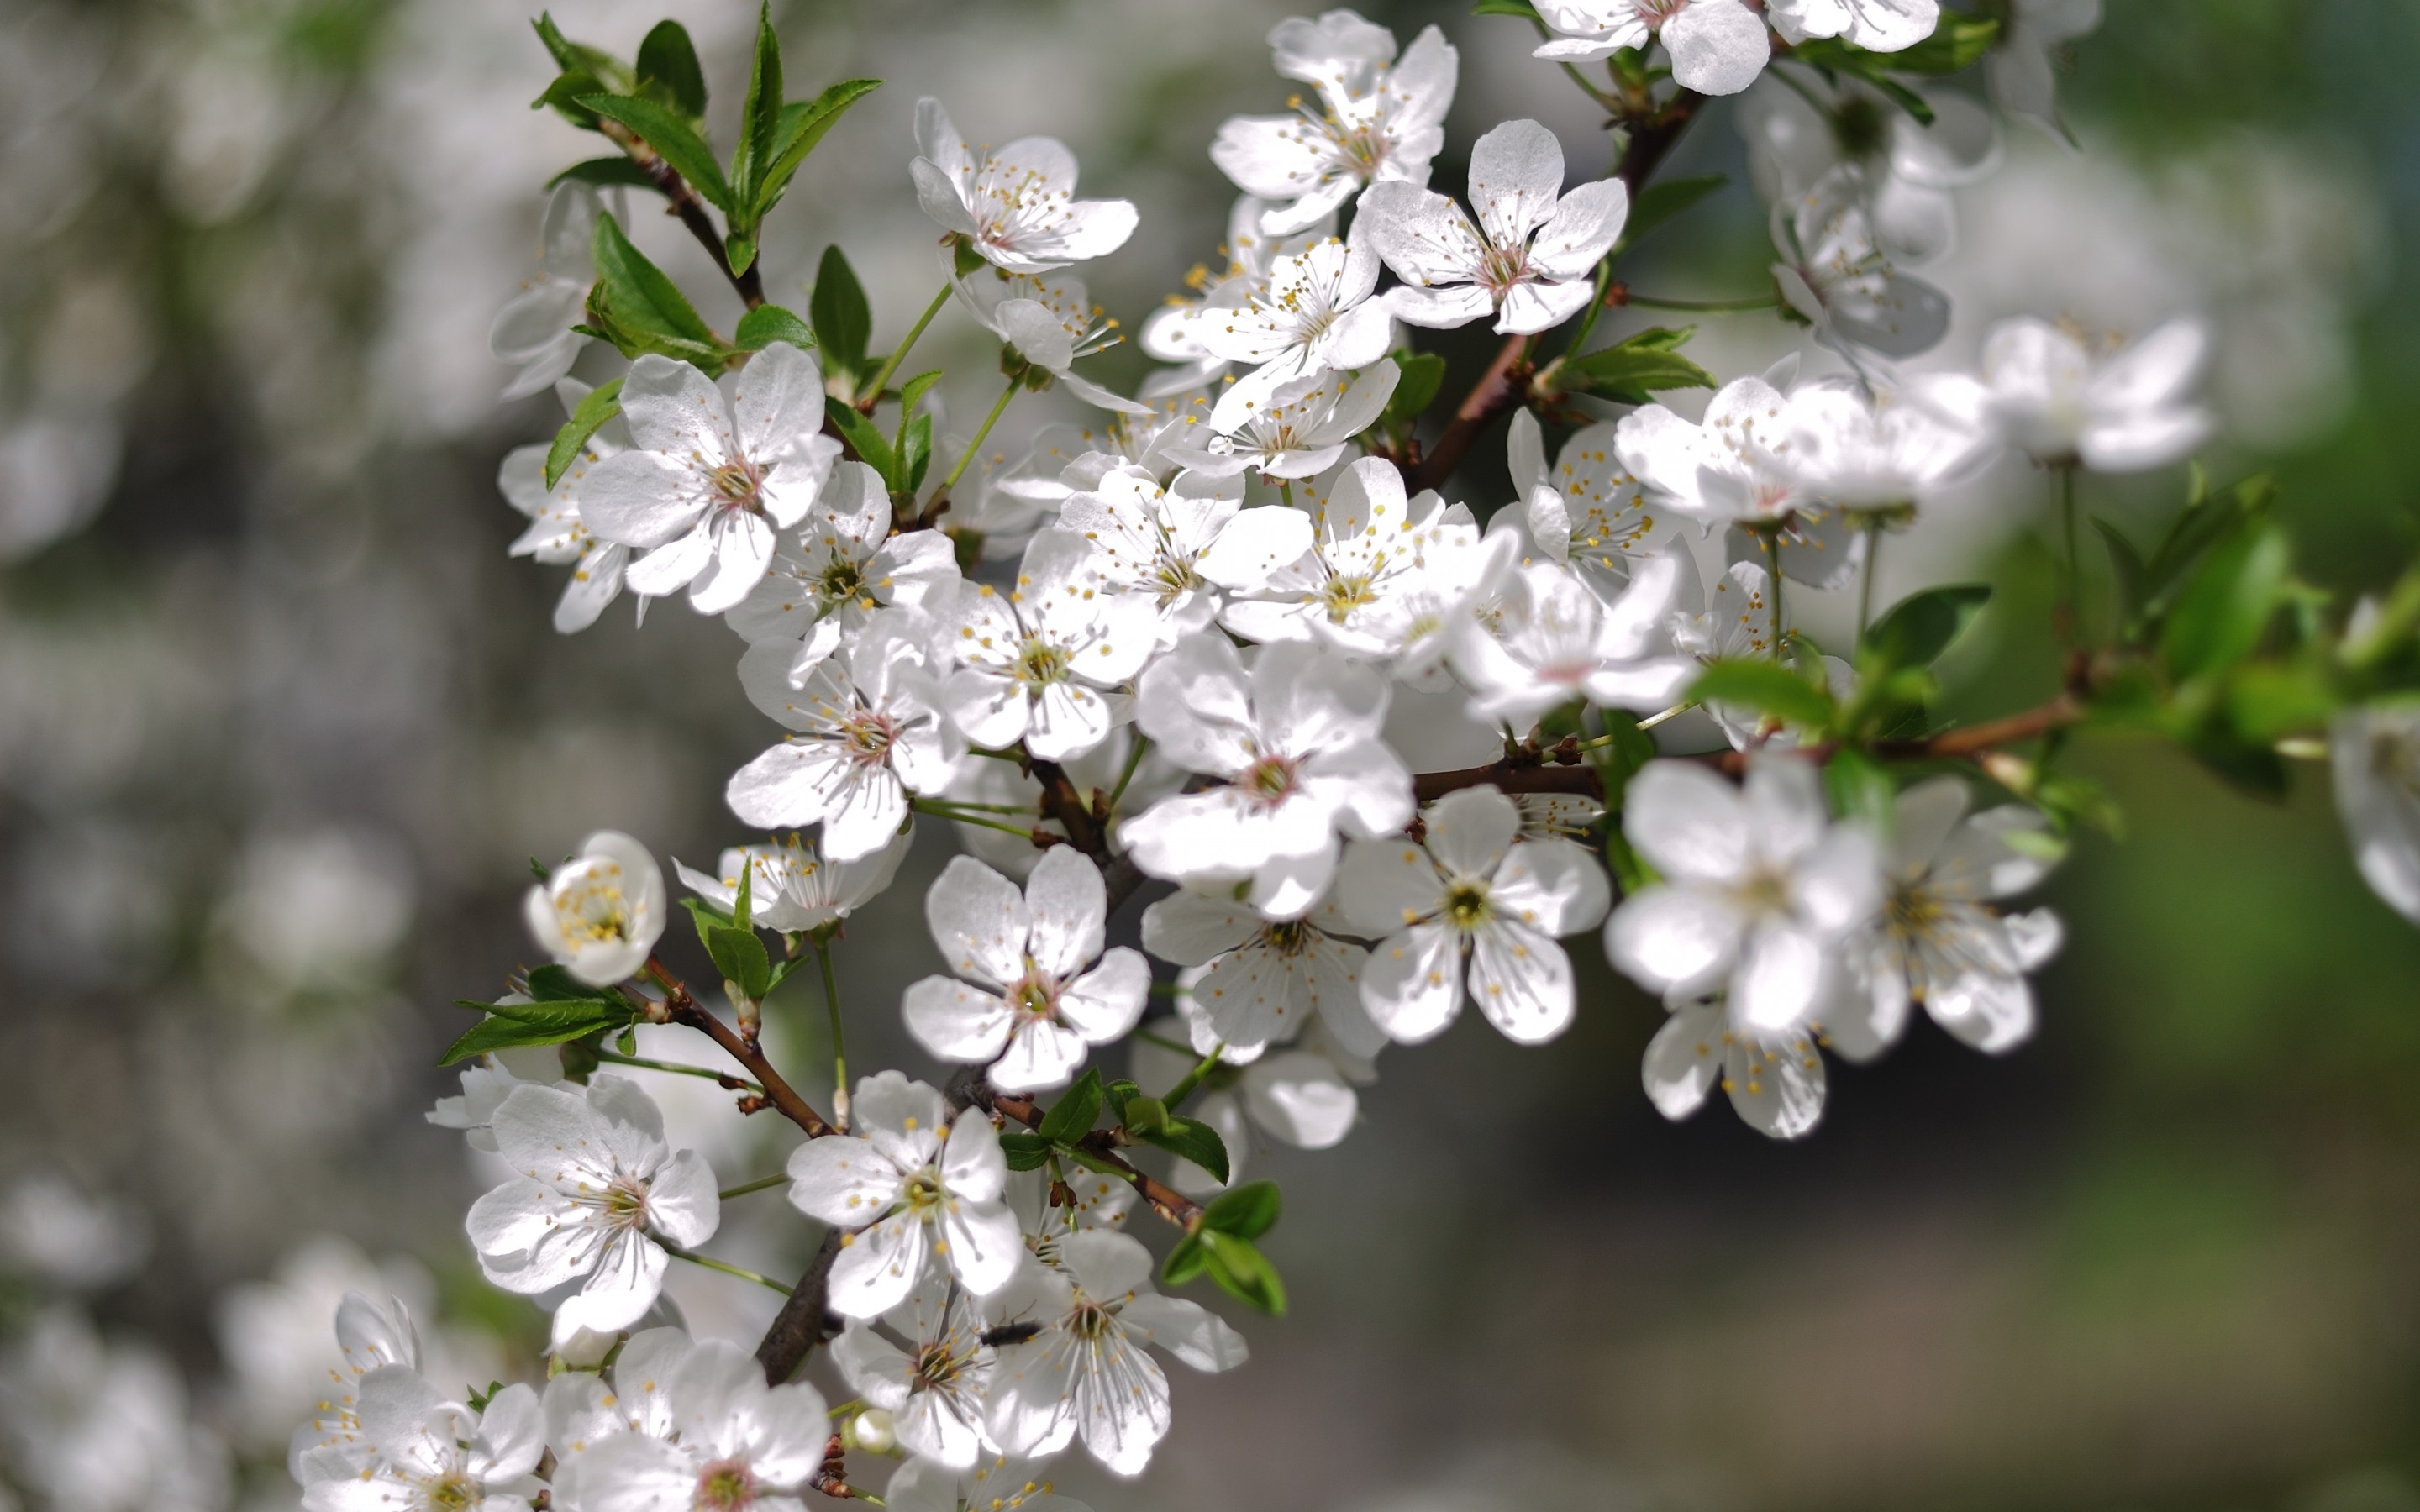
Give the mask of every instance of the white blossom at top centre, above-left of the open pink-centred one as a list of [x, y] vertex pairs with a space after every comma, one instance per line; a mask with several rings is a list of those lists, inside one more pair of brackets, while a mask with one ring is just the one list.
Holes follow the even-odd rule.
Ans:
[[1367, 184], [1428, 181], [1462, 65], [1442, 31], [1423, 27], [1396, 58], [1392, 31], [1331, 10], [1278, 22], [1268, 46], [1280, 75], [1319, 90], [1319, 109], [1292, 102], [1290, 116], [1229, 116], [1210, 143], [1237, 189], [1273, 203], [1266, 235], [1307, 230]]

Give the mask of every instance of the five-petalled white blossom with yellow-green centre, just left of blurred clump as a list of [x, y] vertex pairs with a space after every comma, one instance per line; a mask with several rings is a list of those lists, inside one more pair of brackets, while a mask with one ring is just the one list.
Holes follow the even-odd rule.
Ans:
[[1493, 786], [1447, 793], [1428, 837], [1362, 839], [1336, 890], [1370, 946], [1360, 997], [1389, 1038], [1445, 1033], [1469, 997], [1515, 1045], [1544, 1045], [1573, 1016], [1571, 958], [1556, 936], [1595, 929], [1612, 900], [1604, 866], [1571, 839], [1520, 839], [1520, 808]]

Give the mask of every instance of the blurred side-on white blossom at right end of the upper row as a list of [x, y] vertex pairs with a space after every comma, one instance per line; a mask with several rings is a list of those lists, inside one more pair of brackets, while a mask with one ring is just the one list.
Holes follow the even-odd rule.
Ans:
[[1980, 380], [1946, 375], [1926, 397], [1996, 423], [2035, 462], [2144, 472], [2209, 438], [2209, 411], [2188, 402], [2207, 351], [2202, 327], [2185, 319], [2093, 351], [2074, 329], [2018, 317], [1984, 336]]

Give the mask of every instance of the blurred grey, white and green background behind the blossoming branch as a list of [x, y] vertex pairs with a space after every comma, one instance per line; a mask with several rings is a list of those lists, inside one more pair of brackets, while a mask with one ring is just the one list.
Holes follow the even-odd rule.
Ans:
[[[627, 56], [666, 10], [726, 126], [753, 5], [559, 19]], [[891, 82], [770, 225], [767, 288], [803, 307], [837, 242], [876, 346], [898, 336], [937, 285], [905, 165], [912, 102], [939, 94], [970, 138], [1055, 133], [1087, 191], [1137, 201], [1142, 230], [1087, 269], [1133, 327], [1220, 261], [1232, 191], [1205, 148], [1227, 114], [1283, 109], [1261, 36], [1287, 10], [777, 2], [796, 92]], [[1462, 48], [1442, 186], [1525, 114], [1602, 172], [1595, 111], [1520, 22], [1365, 10]], [[1960, 244], [1926, 269], [1958, 324], [1929, 363], [2016, 312], [2132, 334], [2197, 314], [2212, 472], [2275, 469], [2306, 576], [2379, 588], [2420, 544], [2420, 7], [2108, 10], [2062, 75], [2084, 150], [2006, 123], [1999, 172], [1960, 191]], [[348, 1287], [411, 1302], [440, 1386], [530, 1372], [542, 1314], [484, 1287], [462, 1239], [496, 1173], [424, 1123], [469, 1023], [448, 1004], [528, 960], [530, 856], [603, 825], [692, 864], [741, 839], [721, 781], [772, 726], [738, 697], [738, 639], [680, 602], [634, 627], [629, 600], [561, 639], [561, 569], [503, 554], [496, 464], [559, 411], [496, 402], [486, 327], [537, 276], [540, 186], [598, 150], [528, 109], [552, 70], [525, 22], [496, 0], [0, 0], [0, 1481], [27, 1507], [293, 1507], [283, 1444]], [[1733, 186], [1631, 283], [1762, 290], [1730, 106], [1670, 172]], [[636, 223], [728, 329], [695, 244]], [[1733, 377], [1796, 336], [1709, 317], [1692, 356]], [[958, 312], [929, 344], [966, 380], [951, 414], [980, 411], [990, 344]], [[1493, 339], [1440, 348], [1459, 392]], [[1096, 365], [1128, 389], [1142, 370]], [[1053, 404], [990, 450], [1074, 416]], [[2183, 469], [2086, 486], [2142, 539]], [[2040, 636], [2001, 629], [2047, 614], [2045, 494], [2006, 464], [1892, 542], [1885, 600], [2001, 588], [1948, 663], [1960, 709], [2052, 687]], [[1508, 496], [1498, 440], [1457, 496]], [[2079, 762], [2127, 825], [2050, 888], [2069, 946], [2033, 1043], [1987, 1062], [1919, 1023], [1834, 1067], [1803, 1144], [1723, 1108], [1667, 1125], [1638, 1091], [1660, 1009], [1575, 941], [1583, 1018], [1551, 1050], [1464, 1021], [1382, 1057], [1338, 1152], [1254, 1152], [1287, 1195], [1268, 1248], [1292, 1316], [1217, 1297], [1251, 1364], [1171, 1372], [1142, 1483], [1067, 1459], [1060, 1488], [1101, 1512], [2420, 1507], [2420, 936], [2357, 881], [2318, 767], [2270, 806], [2118, 740]], [[937, 1074], [895, 1002], [939, 968], [920, 900], [951, 852], [927, 825], [849, 924], [862, 1067]], [[801, 994], [772, 1028], [820, 1096], [816, 1016]], [[651, 1050], [707, 1060], [685, 1033]], [[779, 1168], [782, 1127], [658, 1081], [726, 1183]], [[767, 1193], [714, 1248], [794, 1272], [806, 1239]], [[777, 1302], [692, 1268], [673, 1287], [745, 1340]]]

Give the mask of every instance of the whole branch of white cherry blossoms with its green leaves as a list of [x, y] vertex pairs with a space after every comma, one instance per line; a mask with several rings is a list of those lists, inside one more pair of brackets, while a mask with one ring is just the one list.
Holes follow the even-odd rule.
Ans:
[[[1181, 1231], [1166, 1285], [1210, 1275], [1280, 1309], [1254, 1243], [1278, 1195], [1241, 1181], [1249, 1149], [1343, 1142], [1379, 1052], [1464, 1006], [1520, 1045], [1556, 1040], [1597, 948], [1667, 1009], [1641, 1079], [1670, 1118], [1721, 1089], [1759, 1132], [1808, 1135], [1825, 1057], [1880, 1055], [1917, 1004], [1977, 1050], [2023, 1043], [2059, 922], [2016, 900], [2088, 803], [2055, 750], [2006, 748], [2055, 748], [2101, 685], [2079, 651], [2052, 704], [1938, 728], [1929, 668], [1982, 590], [1876, 617], [1876, 559], [1996, 457], [2047, 469], [2072, 510], [2079, 472], [2178, 462], [2209, 416], [2193, 324], [2127, 344], [2011, 319], [1975, 373], [1907, 368], [1948, 329], [1948, 300], [1907, 269], [1953, 247], [1953, 189], [1989, 172], [1999, 128], [1980, 99], [1890, 75], [1902, 58], [1953, 73], [1996, 41], [2004, 104], [2047, 121], [2040, 51], [2064, 22], [2013, 10], [2001, 34], [1934, 0], [1542, 0], [1542, 58], [1604, 60], [1602, 90], [1573, 77], [1624, 126], [1614, 174], [1571, 181], [1554, 133], [1505, 121], [1471, 143], [1459, 196], [1430, 186], [1457, 77], [1445, 36], [1399, 51], [1346, 10], [1290, 19], [1275, 68], [1316, 99], [1220, 128], [1212, 160], [1241, 191], [1225, 266], [1145, 322], [1164, 368], [1137, 399], [1074, 370], [1116, 327], [1070, 269], [1125, 244], [1137, 210], [1077, 198], [1065, 145], [975, 145], [920, 104], [910, 177], [944, 285], [869, 356], [837, 314], [862, 310], [845, 259], [825, 259], [813, 322], [765, 305], [750, 273], [786, 181], [767, 165], [794, 169], [862, 87], [789, 111], [750, 99], [748, 131], [774, 135], [726, 179], [702, 102], [658, 99], [680, 97], [678, 70], [641, 65], [629, 90], [581, 75], [574, 121], [726, 213], [709, 247], [750, 310], [726, 341], [593, 189], [559, 189], [549, 283], [499, 324], [515, 389], [557, 382], [571, 414], [503, 467], [532, 518], [513, 549], [576, 564], [564, 629], [622, 590], [685, 593], [731, 624], [741, 687], [786, 733], [726, 798], [772, 839], [678, 873], [736, 1028], [656, 958], [673, 900], [639, 842], [595, 835], [532, 888], [554, 965], [457, 1057], [564, 1043], [564, 1079], [479, 1062], [433, 1118], [511, 1166], [469, 1239], [494, 1285], [549, 1302], [559, 1369], [542, 1396], [453, 1401], [414, 1372], [399, 1318], [351, 1306], [358, 1384], [295, 1449], [307, 1505], [518, 1507], [544, 1466], [561, 1512], [789, 1507], [857, 1495], [849, 1454], [903, 1454], [895, 1505], [1007, 1507], [1041, 1502], [1028, 1466], [1079, 1439], [1137, 1473], [1169, 1430], [1152, 1350], [1227, 1369], [1244, 1343], [1154, 1292], [1128, 1214]], [[622, 68], [544, 34], [566, 77]], [[770, 29], [760, 85], [779, 80], [767, 48]], [[1786, 87], [1757, 82], [1781, 70]], [[1592, 344], [1604, 310], [1653, 305], [1612, 278], [1636, 191], [1701, 94], [1752, 85], [1740, 123], [1779, 259], [1771, 298], [1740, 305], [1805, 324], [1834, 370], [1800, 377], [1791, 358], [1718, 382], [1679, 331]], [[595, 278], [574, 300], [581, 247]], [[929, 375], [888, 387], [951, 305], [999, 336], [1009, 380], [963, 443], [934, 438]], [[537, 329], [571, 314], [578, 331]], [[1423, 428], [1442, 363], [1408, 331], [1474, 322], [1503, 356], [1452, 423]], [[1561, 356], [1542, 353], [1566, 327]], [[566, 377], [590, 336], [632, 358], [610, 387]], [[968, 477], [1002, 411], [1050, 387], [1106, 421], [1050, 426]], [[1653, 397], [1687, 387], [1713, 389], [1696, 419]], [[1457, 498], [1454, 464], [1498, 416], [1515, 498]], [[2268, 537], [2188, 535], [2176, 561], [2134, 564], [2156, 588], [2130, 610], [2144, 624], [2193, 600], [2207, 564], [2268, 561]], [[2282, 569], [2260, 571], [2248, 634], [2168, 624], [2130, 631], [2130, 653], [2156, 641], [2176, 685], [2224, 675], [2219, 648], [2251, 656], [2280, 602]], [[1786, 585], [1854, 578], [1859, 636], [1827, 656]], [[2069, 547], [2069, 641], [2074, 583]], [[2364, 614], [2347, 665], [2386, 665], [2420, 590]], [[2364, 873], [2420, 917], [2420, 726], [2379, 702], [2343, 721]], [[915, 815], [968, 852], [927, 893], [944, 970], [900, 1004], [953, 1072], [849, 1086], [828, 951], [898, 873]], [[1108, 946], [1152, 883], [1142, 951]], [[757, 1040], [806, 960], [835, 1026], [830, 1115]], [[1154, 960], [1174, 1014], [1145, 1023]], [[682, 1069], [615, 1038], [641, 1021], [711, 1035], [748, 1074], [726, 1081], [743, 1108], [808, 1135], [789, 1200], [825, 1241], [796, 1287], [772, 1282], [789, 1302], [753, 1357], [682, 1333], [663, 1275], [675, 1258], [733, 1270], [699, 1246], [724, 1198], [772, 1183], [719, 1195], [651, 1098], [600, 1069]], [[825, 1340], [857, 1398], [837, 1420], [791, 1381]]]

